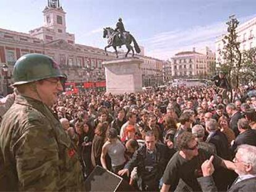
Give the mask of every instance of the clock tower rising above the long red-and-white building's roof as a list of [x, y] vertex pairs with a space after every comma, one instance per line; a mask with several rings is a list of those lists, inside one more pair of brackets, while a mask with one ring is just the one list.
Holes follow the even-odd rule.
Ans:
[[43, 10], [44, 27], [51, 28], [56, 33], [66, 33], [66, 12], [59, 0], [48, 0], [48, 6]]

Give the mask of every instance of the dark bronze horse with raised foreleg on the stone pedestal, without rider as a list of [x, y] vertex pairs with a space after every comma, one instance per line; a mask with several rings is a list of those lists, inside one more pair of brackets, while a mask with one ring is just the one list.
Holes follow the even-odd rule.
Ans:
[[[111, 27], [104, 28], [103, 38], [108, 38], [108, 45], [105, 47], [105, 53], [107, 56], [108, 56], [108, 52], [106, 52], [106, 49], [113, 46], [114, 50], [116, 51], [116, 57], [118, 57], [116, 47], [122, 46], [123, 44], [125, 44], [126, 48], [128, 49], [126, 52], [126, 57], [130, 52], [130, 50], [132, 50], [132, 57], [134, 57], [134, 48], [137, 53], [140, 53], [139, 45], [137, 44], [134, 36], [130, 35], [130, 33], [127, 31], [124, 31], [123, 36], [124, 38], [121, 39], [119, 37], [119, 33], [117, 31], [114, 31], [113, 28]], [[134, 48], [132, 48], [132, 46], [130, 45], [132, 41], [134, 42]]]

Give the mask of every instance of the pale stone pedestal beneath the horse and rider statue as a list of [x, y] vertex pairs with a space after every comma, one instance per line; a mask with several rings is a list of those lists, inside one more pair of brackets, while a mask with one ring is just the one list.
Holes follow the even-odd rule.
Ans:
[[122, 58], [104, 61], [106, 92], [112, 94], [142, 92], [142, 59]]

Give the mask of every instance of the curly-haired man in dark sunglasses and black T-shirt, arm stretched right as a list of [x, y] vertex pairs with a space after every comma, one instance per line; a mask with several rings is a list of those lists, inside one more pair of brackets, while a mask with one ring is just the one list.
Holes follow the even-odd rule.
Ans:
[[[188, 131], [181, 133], [176, 142], [179, 151], [174, 154], [164, 170], [161, 191], [201, 191], [197, 178], [202, 177], [201, 165], [210, 159], [212, 154], [204, 149], [198, 149], [197, 141]], [[213, 156], [215, 167], [234, 169], [233, 162]]]

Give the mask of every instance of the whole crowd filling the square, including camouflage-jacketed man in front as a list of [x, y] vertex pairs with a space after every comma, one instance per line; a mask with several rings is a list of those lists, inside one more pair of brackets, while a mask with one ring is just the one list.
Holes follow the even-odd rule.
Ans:
[[256, 191], [254, 86], [232, 101], [216, 85], [58, 95], [58, 72], [17, 77], [0, 106], [0, 186], [82, 190], [100, 165], [134, 191]]

